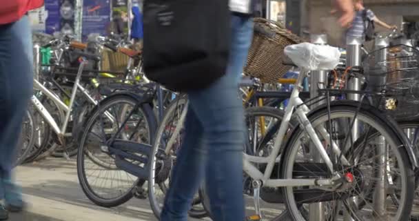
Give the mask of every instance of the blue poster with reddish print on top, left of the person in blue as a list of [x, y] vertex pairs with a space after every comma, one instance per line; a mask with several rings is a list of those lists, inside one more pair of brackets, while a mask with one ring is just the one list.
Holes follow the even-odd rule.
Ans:
[[88, 39], [88, 36], [92, 34], [107, 35], [110, 24], [110, 10], [109, 0], [83, 1], [83, 40]]

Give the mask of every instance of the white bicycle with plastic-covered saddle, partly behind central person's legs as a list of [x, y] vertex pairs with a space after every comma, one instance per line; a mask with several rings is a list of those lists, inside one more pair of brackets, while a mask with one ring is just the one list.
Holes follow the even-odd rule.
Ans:
[[[407, 220], [413, 200], [410, 192], [414, 186], [413, 169], [417, 162], [411, 146], [405, 141], [405, 135], [394, 121], [382, 115], [377, 108], [362, 102], [365, 95], [369, 95], [367, 92], [358, 92], [362, 94], [361, 102], [331, 102], [331, 92], [325, 89], [323, 92], [327, 95], [324, 96], [327, 97], [327, 104], [310, 112], [298, 97], [303, 78], [308, 73], [309, 70], [303, 67], [269, 154], [255, 156], [243, 153], [243, 171], [252, 180], [258, 220], [265, 219], [260, 210], [261, 188], [282, 189], [287, 211], [298, 221], [307, 220], [305, 211], [311, 203], [316, 202], [325, 204], [326, 220], [343, 218], [348, 214], [355, 220]], [[278, 112], [275, 108], [270, 111]], [[176, 128], [170, 130], [173, 131], [170, 140], [176, 140], [172, 137], [179, 136], [181, 130], [178, 127], [181, 128], [185, 111], [180, 115]], [[289, 131], [292, 116], [298, 119], [299, 126], [289, 138], [283, 139]], [[361, 125], [359, 137], [352, 136], [354, 122]], [[158, 134], [162, 130], [159, 128]], [[380, 135], [386, 137], [388, 144], [385, 151], [387, 157], [384, 159], [380, 157], [384, 154], [379, 153], [382, 150], [376, 150], [372, 144], [367, 145], [370, 142], [374, 144]], [[170, 140], [167, 144], [174, 144]], [[167, 150], [172, 147], [166, 145], [164, 151], [159, 147], [160, 140], [156, 139], [150, 154], [149, 191], [154, 184], [170, 177], [164, 162]], [[382, 162], [376, 162], [377, 157], [371, 156], [375, 153], [378, 153]], [[394, 155], [390, 156], [390, 153]], [[373, 164], [367, 164], [370, 161]], [[374, 165], [378, 165], [378, 168]], [[380, 205], [385, 206], [385, 202], [371, 198], [376, 185], [380, 184], [374, 179], [380, 179], [383, 174], [379, 172], [387, 166], [393, 170], [387, 171], [386, 175], [392, 177], [391, 180], [397, 180], [397, 183], [389, 184], [397, 190], [397, 208], [379, 208]], [[393, 173], [394, 170], [397, 170], [396, 173]], [[360, 187], [361, 184], [364, 188]], [[387, 194], [383, 194], [381, 196], [387, 198]]]

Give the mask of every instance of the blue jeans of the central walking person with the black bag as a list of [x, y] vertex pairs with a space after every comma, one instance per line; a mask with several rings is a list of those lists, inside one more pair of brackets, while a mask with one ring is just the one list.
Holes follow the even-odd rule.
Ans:
[[185, 139], [177, 153], [163, 221], [186, 221], [192, 198], [205, 178], [217, 221], [245, 220], [243, 200], [243, 104], [238, 97], [252, 19], [232, 17], [232, 48], [226, 74], [209, 88], [188, 93]]

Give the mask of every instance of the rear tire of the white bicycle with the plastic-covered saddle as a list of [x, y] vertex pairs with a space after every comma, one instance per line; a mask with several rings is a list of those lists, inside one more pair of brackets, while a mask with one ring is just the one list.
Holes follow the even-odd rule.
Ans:
[[[400, 140], [400, 136], [396, 134], [396, 132], [389, 126], [389, 124], [385, 122], [385, 117], [377, 115], [376, 111], [371, 110], [371, 108], [362, 106], [360, 107], [360, 110], [358, 110], [356, 106], [350, 106], [350, 105], [344, 105], [344, 104], [331, 105], [330, 113], [329, 111], [327, 111], [326, 108], [323, 108], [322, 111], [314, 111], [310, 113], [308, 115], [308, 118], [309, 118], [309, 122], [311, 122], [314, 126], [316, 126], [318, 124], [322, 124], [322, 122], [320, 122], [321, 120], [323, 120], [323, 122], [327, 122], [328, 116], [333, 118], [339, 115], [342, 115], [342, 116], [346, 115], [347, 117], [350, 118], [356, 115], [358, 120], [362, 120], [362, 122], [367, 122], [369, 124], [374, 124], [374, 126], [376, 126], [374, 127], [374, 129], [379, 131], [382, 136], [386, 137], [387, 144], [393, 147], [391, 148], [391, 151], [393, 151], [392, 153], [396, 154], [396, 157], [397, 157], [396, 162], [399, 163], [397, 168], [401, 171], [400, 174], [402, 174], [400, 185], [402, 185], [402, 190], [404, 191], [402, 191], [400, 195], [403, 200], [402, 200], [402, 204], [399, 205], [397, 208], [398, 211], [396, 213], [396, 220], [398, 221], [408, 220], [409, 211], [411, 211], [411, 206], [413, 202], [413, 195], [410, 194], [409, 191], [413, 189], [414, 187], [413, 169], [411, 165], [409, 164], [409, 155], [405, 148], [398, 148], [400, 146], [403, 146], [403, 142], [402, 140]], [[293, 177], [293, 172], [294, 172], [293, 160], [296, 159], [296, 154], [298, 153], [298, 148], [300, 147], [299, 142], [304, 142], [304, 139], [303, 139], [304, 136], [305, 136], [305, 130], [303, 128], [297, 128], [296, 131], [293, 133], [293, 136], [291, 137], [291, 139], [285, 146], [285, 152], [281, 159], [281, 166], [280, 166], [282, 169], [281, 178], [291, 179]], [[301, 157], [299, 157], [299, 159], [300, 158]], [[355, 166], [354, 167], [350, 166], [349, 168], [354, 169]], [[342, 171], [341, 173], [344, 173], [344, 171]], [[303, 221], [305, 220], [305, 218], [298, 210], [298, 202], [296, 202], [296, 196], [294, 195], [294, 191], [292, 188], [293, 186], [287, 186], [283, 188], [283, 192], [284, 192], [283, 194], [285, 196], [287, 210], [290, 211], [290, 214], [292, 215], [292, 218], [294, 220]], [[303, 190], [307, 192], [307, 189], [303, 189]], [[316, 191], [318, 190], [316, 189]], [[325, 195], [325, 193], [323, 192], [321, 193], [323, 194], [322, 197]], [[347, 210], [351, 209], [350, 205], [347, 206], [345, 204], [345, 207]], [[353, 210], [349, 212], [354, 213]], [[338, 213], [334, 213], [334, 214], [338, 214]], [[356, 214], [351, 214], [351, 215], [352, 215], [352, 218], [355, 218], [356, 220], [362, 220]]]

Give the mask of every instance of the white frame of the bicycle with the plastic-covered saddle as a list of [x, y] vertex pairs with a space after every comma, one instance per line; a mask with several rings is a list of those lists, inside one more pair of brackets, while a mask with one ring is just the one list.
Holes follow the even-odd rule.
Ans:
[[[285, 108], [285, 115], [283, 120], [280, 124], [280, 128], [278, 134], [275, 137], [274, 148], [272, 149], [272, 153], [270, 153], [267, 157], [256, 157], [252, 155], [247, 155], [243, 153], [243, 171], [249, 175], [253, 180], [260, 180], [263, 182], [263, 186], [269, 187], [280, 187], [280, 186], [328, 186], [334, 184], [334, 180], [340, 178], [340, 175], [334, 173], [334, 166], [331, 162], [325, 147], [323, 146], [320, 138], [318, 137], [316, 131], [314, 131], [313, 126], [309, 122], [307, 118], [307, 113], [309, 113], [309, 108], [304, 104], [303, 100], [298, 97], [300, 90], [303, 88], [303, 79], [309, 73], [308, 70], [302, 70], [300, 75], [298, 75], [298, 79], [292, 90], [291, 97], [289, 98], [289, 103], [287, 108]], [[279, 162], [280, 157], [278, 154], [280, 152], [280, 146], [283, 144], [283, 137], [285, 137], [285, 133], [287, 133], [289, 120], [291, 119], [293, 112], [295, 109], [295, 114], [298, 116], [300, 121], [300, 125], [305, 128], [305, 131], [309, 135], [311, 141], [314, 143], [314, 147], [320, 153], [320, 156], [323, 160], [323, 163], [326, 164], [327, 169], [329, 172], [334, 175], [329, 179], [270, 179], [272, 171], [274, 170], [274, 166], [276, 163]], [[173, 135], [170, 137], [170, 140], [167, 142], [165, 153], [170, 153], [170, 148], [172, 144], [174, 144], [175, 137], [178, 133], [180, 133], [181, 128], [183, 127], [183, 122], [185, 121], [187, 112], [187, 104], [181, 113], [181, 117], [179, 119], [180, 124], [176, 125]], [[323, 125], [317, 126], [318, 132], [320, 133], [323, 140], [326, 142], [330, 142], [329, 133], [327, 133], [326, 128]], [[338, 146], [332, 142], [331, 144], [332, 150], [336, 155], [340, 155], [341, 151]], [[341, 163], [343, 165], [349, 165], [348, 160], [345, 156], [340, 157]], [[254, 164], [267, 164], [265, 172], [262, 173], [260, 170], [254, 166]]]

